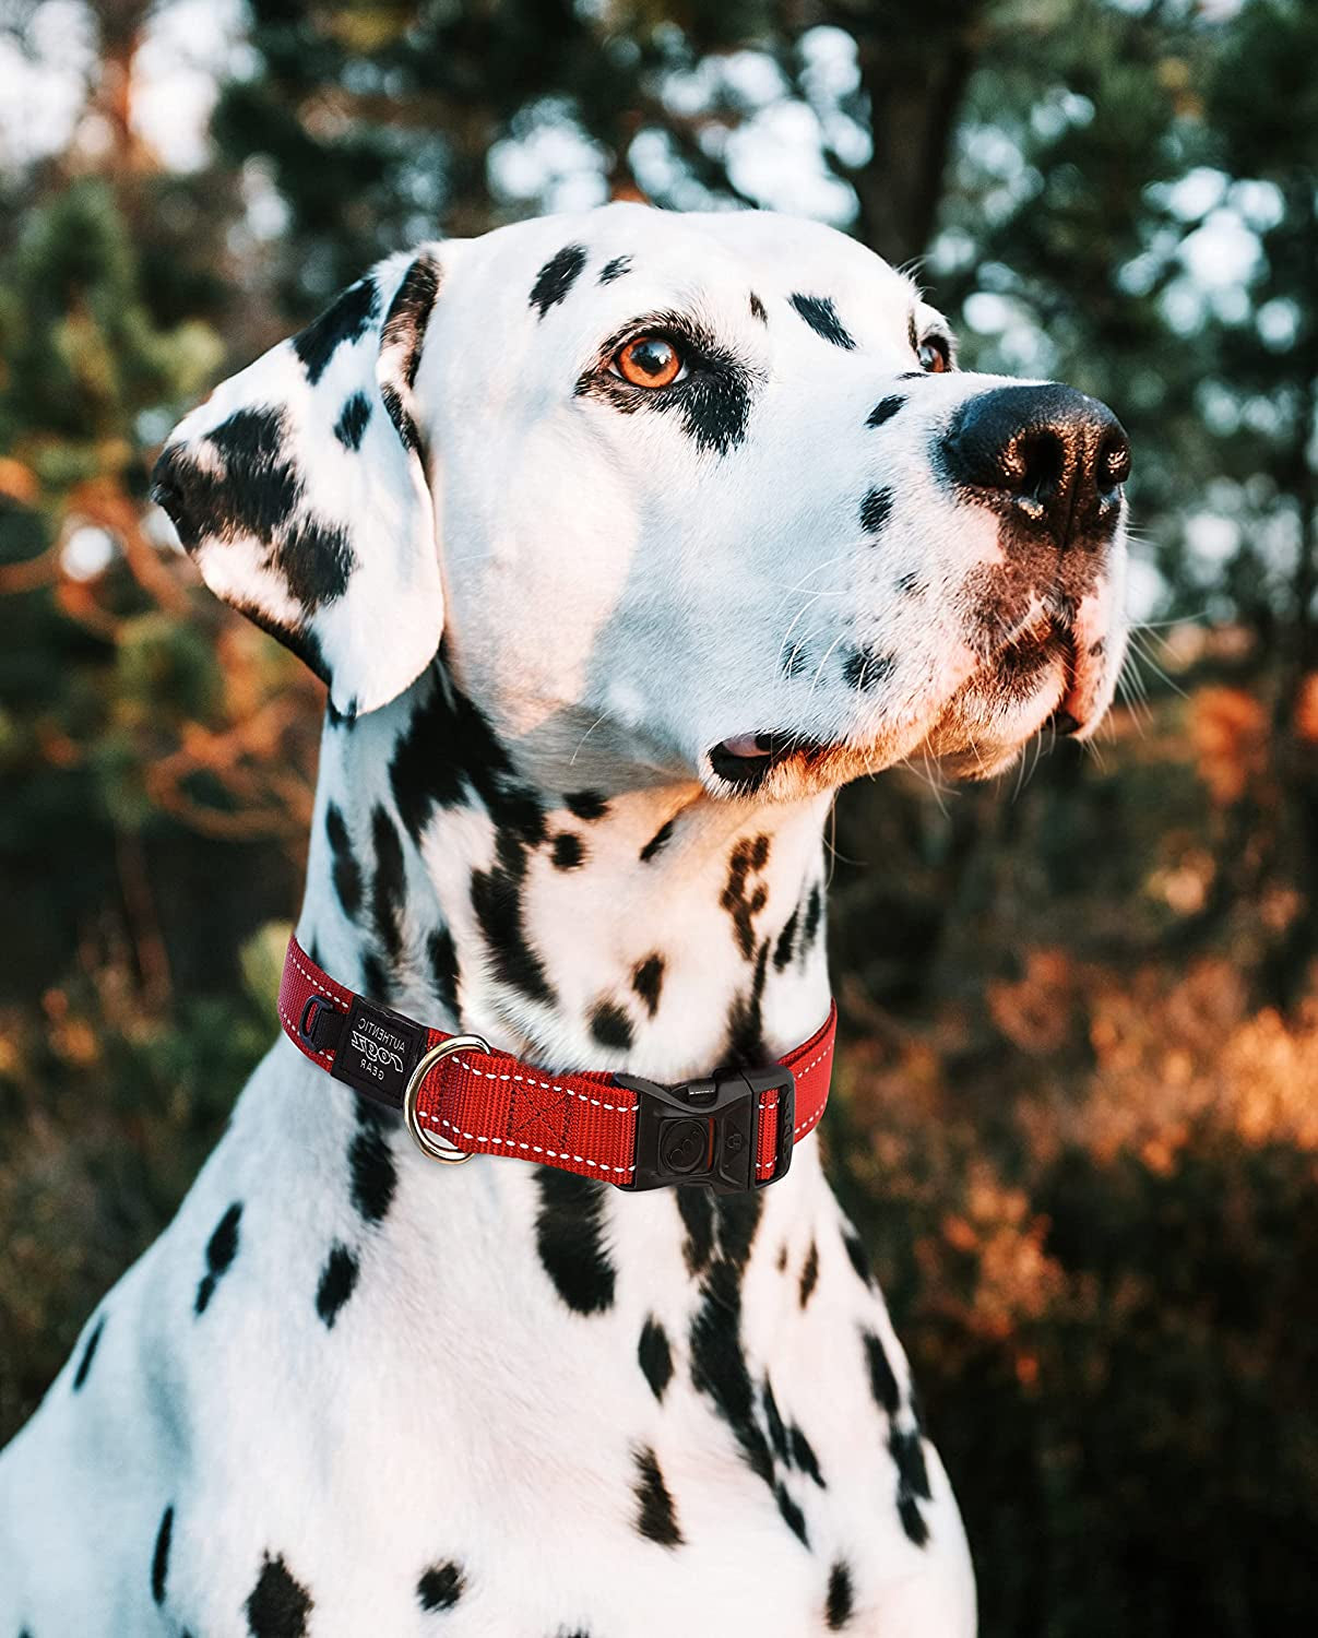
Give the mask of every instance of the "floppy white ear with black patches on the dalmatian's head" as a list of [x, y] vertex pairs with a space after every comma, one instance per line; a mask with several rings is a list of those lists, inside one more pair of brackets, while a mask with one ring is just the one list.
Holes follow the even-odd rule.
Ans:
[[413, 400], [439, 246], [378, 264], [170, 434], [152, 498], [201, 578], [329, 685], [388, 704], [444, 629], [439, 541]]

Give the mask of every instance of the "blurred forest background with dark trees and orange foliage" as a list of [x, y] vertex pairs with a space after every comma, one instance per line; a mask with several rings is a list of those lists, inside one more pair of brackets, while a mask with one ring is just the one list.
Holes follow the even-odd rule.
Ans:
[[321, 693], [146, 500], [414, 239], [822, 216], [1107, 398], [1108, 731], [840, 804], [830, 1163], [986, 1638], [1318, 1615], [1318, 5], [0, 0], [0, 1437], [275, 1029]]

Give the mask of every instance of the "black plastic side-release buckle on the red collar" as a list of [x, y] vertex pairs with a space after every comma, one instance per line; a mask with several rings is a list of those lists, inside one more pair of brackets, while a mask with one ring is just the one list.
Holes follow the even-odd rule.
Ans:
[[[791, 1070], [729, 1070], [706, 1081], [660, 1086], [637, 1075], [614, 1075], [637, 1094], [635, 1176], [627, 1189], [704, 1183], [717, 1194], [768, 1188], [792, 1163], [796, 1081]], [[760, 1106], [778, 1093], [778, 1142], [773, 1173], [755, 1176]]]

